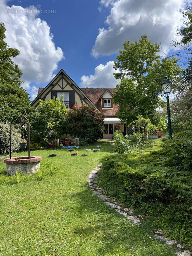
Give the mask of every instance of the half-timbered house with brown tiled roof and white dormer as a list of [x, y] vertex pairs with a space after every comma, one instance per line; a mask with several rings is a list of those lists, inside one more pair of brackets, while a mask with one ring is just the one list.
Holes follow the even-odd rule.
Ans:
[[117, 118], [118, 106], [113, 104], [113, 93], [116, 89], [109, 88], [79, 88], [78, 85], [65, 73], [63, 69], [47, 84], [39, 88], [37, 97], [31, 106], [37, 107], [39, 99], [51, 100], [53, 97], [60, 99], [67, 108], [73, 108], [74, 104], [88, 104], [105, 115], [104, 139], [112, 139], [115, 131], [125, 132], [125, 124]]

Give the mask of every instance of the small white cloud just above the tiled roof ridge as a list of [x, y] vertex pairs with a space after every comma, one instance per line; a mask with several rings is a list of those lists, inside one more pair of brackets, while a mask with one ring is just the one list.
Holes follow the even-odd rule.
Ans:
[[119, 70], [113, 68], [114, 61], [109, 61], [106, 65], [100, 64], [95, 68], [95, 74], [81, 77], [81, 87], [92, 88], [115, 88], [120, 80], [116, 80], [113, 73]]

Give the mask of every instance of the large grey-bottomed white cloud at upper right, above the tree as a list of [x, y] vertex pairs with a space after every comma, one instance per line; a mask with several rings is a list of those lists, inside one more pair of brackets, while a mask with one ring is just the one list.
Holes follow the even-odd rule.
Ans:
[[181, 26], [182, 10], [188, 0], [101, 0], [105, 7], [112, 5], [105, 23], [108, 28], [99, 28], [92, 48], [92, 55], [111, 55], [123, 49], [124, 41], [139, 40], [147, 34], [152, 42], [162, 44], [166, 51]]

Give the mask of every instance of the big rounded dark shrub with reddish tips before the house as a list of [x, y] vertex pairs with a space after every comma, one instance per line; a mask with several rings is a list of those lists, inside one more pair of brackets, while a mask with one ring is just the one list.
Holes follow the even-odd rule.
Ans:
[[98, 140], [104, 130], [104, 115], [92, 106], [74, 105], [65, 116], [63, 131], [88, 143]]

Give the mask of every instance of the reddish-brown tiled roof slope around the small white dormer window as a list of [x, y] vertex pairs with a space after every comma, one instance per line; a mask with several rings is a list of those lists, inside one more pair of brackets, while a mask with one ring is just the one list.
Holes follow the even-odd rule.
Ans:
[[112, 94], [113, 91], [117, 89], [113, 88], [80, 88], [82, 92], [92, 101], [92, 103], [101, 111], [105, 116], [116, 116], [118, 112], [118, 105], [113, 104], [113, 109], [102, 109], [100, 96], [106, 91], [109, 90]]

